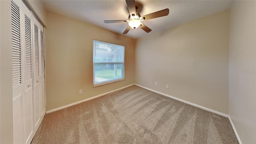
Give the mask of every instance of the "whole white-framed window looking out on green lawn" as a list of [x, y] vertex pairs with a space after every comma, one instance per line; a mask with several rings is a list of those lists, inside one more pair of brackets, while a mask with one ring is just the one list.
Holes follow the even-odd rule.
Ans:
[[124, 46], [93, 40], [93, 84], [124, 80]]

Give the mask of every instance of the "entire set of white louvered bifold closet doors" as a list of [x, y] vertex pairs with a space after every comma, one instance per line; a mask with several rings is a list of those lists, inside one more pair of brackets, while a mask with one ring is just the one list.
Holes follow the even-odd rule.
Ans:
[[[45, 114], [44, 29], [21, 0], [11, 1], [10, 8], [13, 140], [14, 144], [30, 144]], [[38, 25], [38, 37], [33, 34], [34, 24]]]

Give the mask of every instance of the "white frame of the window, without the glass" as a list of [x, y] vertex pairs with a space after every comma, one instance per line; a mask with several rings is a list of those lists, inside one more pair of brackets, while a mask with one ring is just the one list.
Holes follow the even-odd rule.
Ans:
[[[94, 42], [97, 42], [97, 43], [101, 43], [101, 44], [109, 44], [109, 45], [112, 45], [112, 46], [122, 46], [124, 47], [123, 45], [119, 45], [119, 44], [113, 44], [113, 43], [110, 43], [110, 42], [104, 42], [104, 41], [100, 41], [100, 40], [93, 40], [93, 43], [92, 43], [92, 46], [93, 46], [93, 50], [92, 50], [92, 54], [94, 54]], [[125, 47], [124, 47], [124, 51], [125, 51]], [[124, 80], [124, 60], [123, 62], [94, 62], [94, 55], [92, 56], [93, 60], [93, 85], [94, 87], [96, 86], [102, 86], [102, 85], [105, 85], [105, 84], [111, 84], [111, 83], [114, 83], [114, 82], [119, 82], [119, 81], [122, 81]], [[123, 53], [123, 58], [124, 58], [124, 53]], [[95, 70], [94, 70], [94, 64], [122, 64], [122, 78], [116, 78], [114, 80], [108, 80], [108, 81], [104, 81], [104, 82], [97, 82], [95, 83]]]

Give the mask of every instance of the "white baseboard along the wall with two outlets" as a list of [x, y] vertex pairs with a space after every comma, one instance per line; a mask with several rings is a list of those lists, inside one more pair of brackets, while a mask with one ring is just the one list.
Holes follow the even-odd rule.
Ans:
[[146, 88], [146, 87], [140, 86], [140, 85], [138, 85], [138, 84], [135, 84], [135, 85], [136, 85], [136, 86], [139, 86], [139, 87], [141, 87], [141, 88], [145, 88], [145, 89], [147, 89], [147, 90], [150, 90], [150, 91], [152, 91], [152, 92], [161, 94], [161, 95], [163, 95], [163, 96], [167, 96], [167, 97], [172, 98], [172, 99], [174, 99], [174, 100], [178, 100], [178, 101], [180, 101], [180, 102], [184, 102], [184, 103], [189, 104], [189, 105], [191, 105], [191, 106], [195, 106], [195, 107], [197, 107], [197, 108], [201, 108], [201, 109], [206, 110], [206, 111], [208, 111], [208, 112], [212, 112], [212, 113], [214, 113], [214, 114], [218, 114], [218, 115], [224, 116], [224, 117], [226, 117], [226, 118], [228, 117], [227, 114], [223, 114], [223, 113], [221, 113], [221, 112], [217, 112], [217, 111], [212, 110], [212, 109], [210, 109], [210, 108], [206, 108], [206, 107], [203, 107], [203, 106], [199, 106], [199, 105], [197, 105], [197, 104], [193, 104], [193, 103], [191, 103], [191, 102], [187, 102], [187, 101], [185, 101], [185, 100], [182, 100], [182, 99], [179, 99], [179, 98], [175, 98], [175, 97], [173, 97], [173, 96], [169, 96], [168, 94], [164, 94], [164, 93], [162, 93], [162, 92], [158, 92], [158, 91], [156, 91], [156, 90], [152, 90], [152, 89], [150, 89], [150, 88]]

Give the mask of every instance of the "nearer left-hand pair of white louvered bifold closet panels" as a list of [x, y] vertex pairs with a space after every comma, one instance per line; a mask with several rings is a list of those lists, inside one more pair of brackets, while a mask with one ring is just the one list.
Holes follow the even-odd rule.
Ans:
[[32, 14], [11, 1], [14, 143], [28, 143], [33, 127]]

